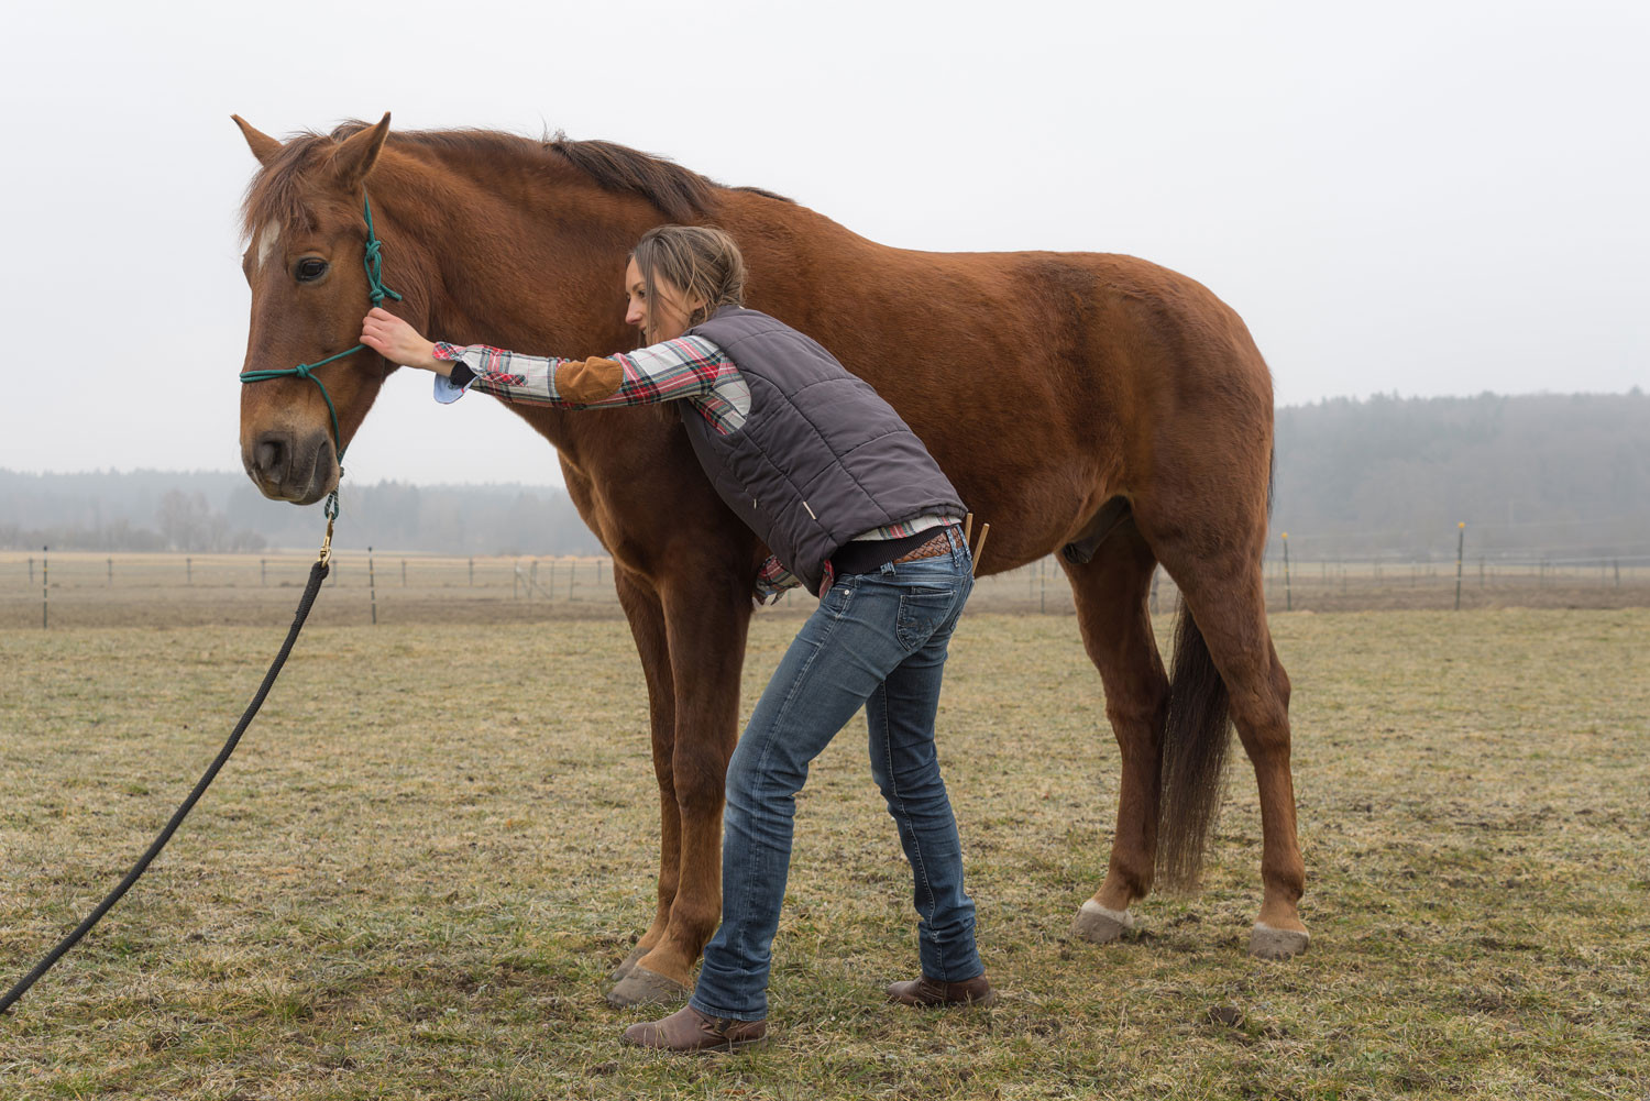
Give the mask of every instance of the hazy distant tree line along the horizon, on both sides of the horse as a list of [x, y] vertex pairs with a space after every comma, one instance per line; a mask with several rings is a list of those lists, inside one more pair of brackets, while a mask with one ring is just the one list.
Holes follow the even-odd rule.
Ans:
[[[591, 555], [561, 489], [345, 482], [351, 546]], [[1277, 411], [1269, 553], [1302, 558], [1650, 555], [1650, 398], [1338, 398]], [[0, 470], [0, 546], [310, 548], [320, 505], [266, 500], [243, 474]]]

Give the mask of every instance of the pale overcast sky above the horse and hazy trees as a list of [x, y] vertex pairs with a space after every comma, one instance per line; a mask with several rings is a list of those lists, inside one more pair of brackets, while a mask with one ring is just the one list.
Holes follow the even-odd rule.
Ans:
[[[1643, 0], [99, 0], [5, 21], [15, 470], [239, 469], [254, 162], [231, 112], [274, 135], [384, 111], [564, 129], [888, 244], [1132, 253], [1242, 314], [1279, 403], [1650, 385]], [[441, 408], [403, 371], [350, 477], [559, 470], [497, 403]]]

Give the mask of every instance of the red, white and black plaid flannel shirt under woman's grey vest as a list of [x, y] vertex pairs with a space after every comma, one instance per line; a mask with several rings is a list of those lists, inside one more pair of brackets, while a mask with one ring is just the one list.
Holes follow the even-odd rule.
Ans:
[[[446, 342], [436, 343], [434, 355], [437, 360], [447, 360], [454, 365], [462, 363], [472, 376], [460, 383], [437, 378], [437, 396], [446, 383], [449, 391], [464, 393], [474, 386], [505, 401], [559, 409], [614, 409], [660, 401], [686, 401], [721, 436], [739, 431], [751, 414], [751, 385], [739, 375], [739, 368], [728, 353], [705, 337], [676, 337], [635, 352], [619, 352], [607, 357], [620, 368], [617, 385], [612, 393], [586, 401], [563, 398], [558, 386], [558, 376], [566, 383], [574, 368], [584, 366], [584, 360], [521, 355], [483, 343], [452, 345]], [[457, 371], [457, 368], [454, 370]], [[904, 523], [873, 528], [856, 535], [855, 540], [903, 538], [942, 523], [945, 523], [945, 517], [917, 517]], [[830, 583], [832, 573], [827, 563], [825, 588], [830, 588]], [[800, 578], [785, 569], [779, 558], [769, 555], [756, 578], [756, 598], [767, 604], [779, 599], [785, 589], [800, 584]]]

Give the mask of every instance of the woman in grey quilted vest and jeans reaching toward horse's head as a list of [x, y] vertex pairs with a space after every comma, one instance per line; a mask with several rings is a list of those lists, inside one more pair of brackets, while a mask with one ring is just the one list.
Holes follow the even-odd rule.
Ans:
[[888, 994], [906, 1005], [990, 1004], [934, 753], [945, 647], [974, 588], [957, 490], [868, 383], [795, 328], [742, 307], [744, 261], [728, 234], [648, 231], [630, 254], [625, 292], [625, 320], [648, 345], [604, 360], [431, 343], [381, 309], [361, 327], [361, 342], [386, 358], [436, 371], [442, 401], [470, 386], [579, 409], [678, 401], [706, 477], [774, 551], [754, 578], [756, 598], [777, 599], [794, 584], [820, 594], [728, 763], [721, 928], [693, 997], [624, 1038], [696, 1051], [766, 1035], [794, 796], [861, 706], [871, 776], [899, 827], [921, 914], [922, 977]]

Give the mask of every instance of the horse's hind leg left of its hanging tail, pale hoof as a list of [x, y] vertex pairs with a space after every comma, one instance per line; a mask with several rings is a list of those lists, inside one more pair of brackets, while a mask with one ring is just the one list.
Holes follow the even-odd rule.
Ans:
[[1152, 639], [1147, 598], [1157, 560], [1124, 518], [1086, 556], [1066, 555], [1077, 626], [1106, 688], [1106, 716], [1122, 756], [1117, 830], [1106, 878], [1082, 903], [1071, 931], [1097, 944], [1135, 928], [1129, 906], [1152, 890], [1158, 820], [1158, 764], [1168, 677]]

